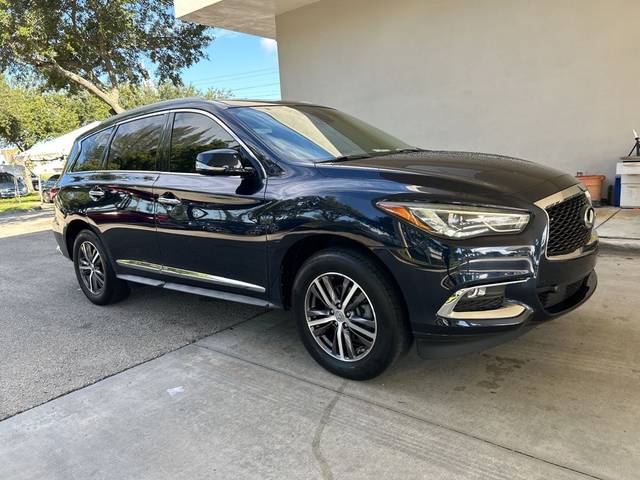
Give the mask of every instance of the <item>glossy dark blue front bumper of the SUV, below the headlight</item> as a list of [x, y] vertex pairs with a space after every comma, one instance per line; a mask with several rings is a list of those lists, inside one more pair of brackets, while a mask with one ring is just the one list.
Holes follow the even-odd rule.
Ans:
[[[546, 218], [539, 215], [531, 227], [521, 236], [464, 245], [403, 226], [408, 248], [375, 251], [399, 284], [421, 357], [498, 345], [577, 308], [593, 294], [597, 236], [580, 255], [554, 260], [544, 254]], [[456, 308], [469, 292], [486, 289], [488, 294], [493, 287], [502, 295], [495, 308]]]

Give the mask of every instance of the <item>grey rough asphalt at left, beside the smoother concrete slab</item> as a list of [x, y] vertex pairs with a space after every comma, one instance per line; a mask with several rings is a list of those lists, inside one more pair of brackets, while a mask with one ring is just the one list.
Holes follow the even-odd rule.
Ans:
[[4, 227], [0, 420], [262, 311], [151, 287], [98, 307], [78, 288], [73, 265], [56, 253], [49, 231], [2, 238]]

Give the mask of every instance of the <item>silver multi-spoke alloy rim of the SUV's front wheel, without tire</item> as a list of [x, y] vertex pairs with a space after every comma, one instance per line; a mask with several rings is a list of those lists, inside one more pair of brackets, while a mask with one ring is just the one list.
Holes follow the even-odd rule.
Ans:
[[354, 362], [371, 352], [376, 312], [364, 289], [346, 275], [316, 277], [305, 296], [305, 316], [313, 338], [333, 358]]

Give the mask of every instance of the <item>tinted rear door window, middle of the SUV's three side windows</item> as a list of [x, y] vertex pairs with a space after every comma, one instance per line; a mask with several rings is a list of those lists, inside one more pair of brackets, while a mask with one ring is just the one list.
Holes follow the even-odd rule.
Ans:
[[109, 148], [108, 170], [156, 170], [165, 116], [141, 118], [118, 126]]

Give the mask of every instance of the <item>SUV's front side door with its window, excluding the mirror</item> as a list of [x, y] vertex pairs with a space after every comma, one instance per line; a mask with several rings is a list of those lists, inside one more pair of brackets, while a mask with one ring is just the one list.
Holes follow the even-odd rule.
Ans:
[[[167, 172], [155, 184], [163, 273], [179, 283], [265, 298], [266, 231], [260, 221], [266, 179], [202, 175], [196, 156], [238, 140], [205, 113], [178, 111], [170, 119]], [[255, 160], [253, 160], [255, 162]]]

